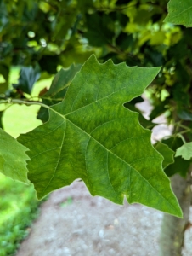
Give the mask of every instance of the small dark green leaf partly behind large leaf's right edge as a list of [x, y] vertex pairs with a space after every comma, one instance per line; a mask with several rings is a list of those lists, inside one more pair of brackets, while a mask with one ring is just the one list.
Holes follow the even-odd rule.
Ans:
[[162, 162], [163, 169], [174, 163], [173, 155], [175, 154], [175, 152], [171, 148], [169, 148], [166, 144], [160, 142], [155, 143], [154, 147], [164, 158]]

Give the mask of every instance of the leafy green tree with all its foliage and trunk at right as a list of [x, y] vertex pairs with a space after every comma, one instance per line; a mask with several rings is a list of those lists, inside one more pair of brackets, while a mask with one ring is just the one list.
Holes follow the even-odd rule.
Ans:
[[[1, 130], [1, 172], [22, 182], [28, 172], [39, 199], [81, 178], [92, 195], [116, 203], [126, 195], [180, 218], [182, 208], [183, 220], [165, 215], [161, 238], [162, 255], [180, 255], [191, 201], [191, 3], [171, 0], [168, 15], [166, 0], [0, 4], [1, 102], [39, 104], [43, 122], [17, 139]], [[20, 79], [10, 88], [13, 65], [21, 65]], [[58, 65], [71, 67], [29, 100], [37, 79]], [[135, 103], [149, 84], [154, 109], [146, 120]], [[149, 130], [162, 113], [174, 130], [153, 147]]]

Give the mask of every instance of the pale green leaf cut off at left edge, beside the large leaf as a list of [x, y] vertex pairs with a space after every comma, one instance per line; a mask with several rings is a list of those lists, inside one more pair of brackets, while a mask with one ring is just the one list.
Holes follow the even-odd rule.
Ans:
[[0, 129], [0, 172], [22, 183], [28, 183], [25, 152], [29, 150], [7, 132]]

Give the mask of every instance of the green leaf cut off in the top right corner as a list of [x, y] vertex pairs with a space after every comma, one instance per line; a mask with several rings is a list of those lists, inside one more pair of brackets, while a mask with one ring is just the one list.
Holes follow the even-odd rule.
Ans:
[[191, 0], [170, 0], [168, 3], [168, 15], [165, 22], [176, 25], [192, 26], [192, 2]]

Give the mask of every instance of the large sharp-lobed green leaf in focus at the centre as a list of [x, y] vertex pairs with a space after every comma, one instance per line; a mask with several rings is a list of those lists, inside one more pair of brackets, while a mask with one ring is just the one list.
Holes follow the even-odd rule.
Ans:
[[82, 178], [92, 195], [118, 204], [126, 196], [129, 203], [182, 216], [151, 132], [123, 107], [159, 70], [99, 64], [94, 56], [85, 62], [64, 101], [50, 108], [48, 122], [19, 138], [30, 148], [29, 179], [38, 198]]

